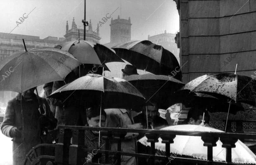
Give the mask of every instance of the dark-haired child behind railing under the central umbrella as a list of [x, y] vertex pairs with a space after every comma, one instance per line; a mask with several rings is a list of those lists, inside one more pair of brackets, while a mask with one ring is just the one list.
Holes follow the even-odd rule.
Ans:
[[[101, 111], [100, 117], [100, 106], [89, 107], [86, 109], [87, 123], [85, 126], [90, 127], [104, 127], [106, 125], [106, 113], [104, 110]], [[85, 130], [85, 146], [88, 149], [105, 149], [105, 144], [102, 138], [100, 139], [100, 147], [99, 147], [99, 131], [90, 131]], [[102, 156], [101, 156], [102, 155]], [[86, 162], [98, 163], [97, 159], [99, 158], [100, 163], [105, 163], [104, 154], [100, 153], [92, 153], [88, 154], [86, 158]]]

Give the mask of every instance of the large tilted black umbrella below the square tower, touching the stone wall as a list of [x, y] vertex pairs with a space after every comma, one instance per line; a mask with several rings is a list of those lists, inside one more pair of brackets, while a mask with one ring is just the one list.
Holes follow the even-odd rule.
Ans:
[[181, 80], [182, 73], [176, 57], [151, 41], [128, 41], [112, 47], [116, 54], [137, 69], [159, 75], [171, 75]]

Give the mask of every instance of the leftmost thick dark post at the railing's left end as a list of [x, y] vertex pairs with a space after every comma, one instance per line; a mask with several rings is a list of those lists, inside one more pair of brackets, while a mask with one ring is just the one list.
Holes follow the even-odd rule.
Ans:
[[[70, 145], [70, 129], [59, 129], [59, 141], [55, 145], [55, 162], [68, 164], [68, 151]], [[69, 139], [69, 140], [68, 140]]]

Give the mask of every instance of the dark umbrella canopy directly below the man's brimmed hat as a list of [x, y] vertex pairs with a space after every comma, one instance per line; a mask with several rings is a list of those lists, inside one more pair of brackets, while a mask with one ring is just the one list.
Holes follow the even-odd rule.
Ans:
[[174, 92], [185, 85], [175, 78], [151, 73], [131, 75], [124, 79], [134, 85], [147, 101], [158, 103], [161, 109], [170, 107]]

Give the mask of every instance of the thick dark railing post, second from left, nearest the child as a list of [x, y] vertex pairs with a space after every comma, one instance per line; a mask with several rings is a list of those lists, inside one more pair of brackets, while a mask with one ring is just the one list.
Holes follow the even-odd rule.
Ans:
[[82, 149], [85, 144], [85, 131], [75, 129], [72, 132], [72, 144], [69, 146], [69, 164], [82, 165], [87, 157], [83, 154]]

